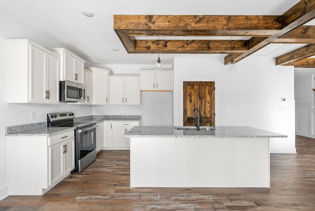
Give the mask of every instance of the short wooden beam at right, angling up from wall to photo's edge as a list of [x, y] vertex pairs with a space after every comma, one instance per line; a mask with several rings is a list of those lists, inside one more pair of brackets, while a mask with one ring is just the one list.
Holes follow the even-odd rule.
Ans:
[[276, 58], [276, 65], [286, 65], [315, 55], [315, 44], [309, 44]]

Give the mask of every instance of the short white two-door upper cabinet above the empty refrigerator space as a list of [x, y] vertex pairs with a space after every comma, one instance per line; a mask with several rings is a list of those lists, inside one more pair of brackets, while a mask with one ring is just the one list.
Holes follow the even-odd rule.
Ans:
[[173, 70], [140, 70], [140, 90], [173, 90]]

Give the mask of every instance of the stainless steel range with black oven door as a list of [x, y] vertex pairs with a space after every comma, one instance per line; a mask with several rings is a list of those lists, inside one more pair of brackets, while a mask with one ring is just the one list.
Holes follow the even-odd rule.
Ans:
[[47, 113], [47, 127], [76, 127], [75, 168], [72, 172], [80, 173], [96, 159], [96, 124], [77, 123], [73, 119], [73, 112]]

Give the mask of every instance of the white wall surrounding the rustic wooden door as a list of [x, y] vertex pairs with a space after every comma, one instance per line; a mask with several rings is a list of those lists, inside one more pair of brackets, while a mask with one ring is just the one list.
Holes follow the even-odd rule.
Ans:
[[[257, 65], [259, 64], [259, 65]], [[215, 81], [215, 125], [251, 126], [287, 135], [271, 139], [272, 153], [295, 153], [294, 69], [254, 56], [229, 72], [222, 56], [174, 59], [174, 125], [183, 125], [183, 81]], [[281, 102], [285, 98], [286, 102]], [[230, 107], [230, 111], [224, 111]], [[285, 111], [279, 111], [285, 107]]]

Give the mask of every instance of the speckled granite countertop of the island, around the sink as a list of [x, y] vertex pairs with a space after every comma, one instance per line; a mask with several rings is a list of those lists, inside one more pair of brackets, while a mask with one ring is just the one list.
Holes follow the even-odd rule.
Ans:
[[147, 138], [287, 138], [286, 135], [245, 126], [216, 126], [216, 130], [175, 130], [174, 126], [135, 126], [125, 137]]

